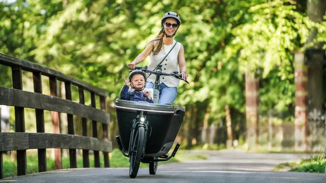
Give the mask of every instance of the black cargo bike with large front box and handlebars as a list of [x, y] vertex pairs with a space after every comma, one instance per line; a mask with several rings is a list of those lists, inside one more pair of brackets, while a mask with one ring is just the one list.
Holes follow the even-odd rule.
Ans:
[[[161, 66], [155, 71], [147, 67], [137, 67], [145, 73], [156, 75], [154, 101], [158, 101], [160, 76], [181, 79], [178, 73], [163, 73]], [[187, 81], [185, 81], [187, 82]], [[116, 136], [122, 154], [129, 158], [129, 176], [137, 176], [140, 163], [149, 163], [149, 173], [155, 174], [160, 161], [168, 161], [175, 156], [180, 146], [176, 144], [171, 156], [168, 155], [181, 127], [185, 107], [182, 105], [150, 104], [117, 99], [115, 102], [119, 135]]]

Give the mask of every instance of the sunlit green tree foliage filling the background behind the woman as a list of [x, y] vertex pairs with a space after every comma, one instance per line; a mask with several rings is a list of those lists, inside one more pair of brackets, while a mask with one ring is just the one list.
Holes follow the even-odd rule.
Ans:
[[[201, 106], [195, 120], [199, 125], [206, 108], [209, 123], [223, 120], [226, 105], [232, 119], [244, 124], [244, 73], [252, 72], [260, 80], [259, 112], [286, 118], [294, 108], [293, 52], [309, 46], [305, 43], [312, 28], [318, 34], [311, 44], [326, 42], [326, 21], [310, 21], [305, 3], [1, 1], [0, 52], [104, 88], [112, 104], [128, 74], [126, 64], [158, 34], [161, 16], [175, 11], [182, 20], [175, 39], [184, 45], [190, 82], [181, 82], [175, 103]], [[9, 87], [3, 78], [9, 78], [10, 71], [0, 68], [0, 73], [0, 84]]]

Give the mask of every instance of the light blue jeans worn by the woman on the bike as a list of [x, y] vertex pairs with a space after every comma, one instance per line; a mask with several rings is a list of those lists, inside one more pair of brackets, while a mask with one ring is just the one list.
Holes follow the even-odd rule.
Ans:
[[[146, 83], [146, 88], [154, 88], [152, 82]], [[177, 97], [177, 87], [169, 87], [164, 83], [159, 84], [159, 104], [172, 104]]]

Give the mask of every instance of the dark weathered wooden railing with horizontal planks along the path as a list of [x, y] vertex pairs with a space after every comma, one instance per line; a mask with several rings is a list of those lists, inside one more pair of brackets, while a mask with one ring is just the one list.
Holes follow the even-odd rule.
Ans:
[[[15, 132], [1, 132], [0, 126], [0, 179], [3, 178], [3, 151], [17, 151], [17, 175], [26, 174], [26, 150], [38, 149], [39, 172], [47, 171], [46, 148], [55, 148], [55, 164], [61, 168], [61, 148], [69, 149], [70, 168], [76, 168], [76, 149], [83, 149], [83, 166], [89, 167], [89, 150], [94, 153], [94, 165], [100, 167], [99, 151], [103, 152], [104, 166], [110, 167], [108, 153], [112, 143], [107, 140], [110, 115], [105, 112], [105, 90], [69, 78], [64, 74], [0, 53], [0, 65], [11, 67], [13, 88], [0, 86], [0, 105], [14, 106]], [[33, 73], [34, 93], [22, 90], [22, 70]], [[42, 94], [42, 75], [49, 77], [50, 96]], [[4, 79], [4, 78], [2, 78]], [[7, 78], [11, 79], [11, 78]], [[66, 99], [58, 97], [57, 81], [65, 83]], [[71, 85], [78, 87], [79, 103], [72, 101]], [[90, 92], [91, 106], [85, 105], [84, 90]], [[96, 96], [100, 109], [96, 109]], [[24, 108], [34, 108], [36, 132], [25, 132]], [[45, 133], [44, 110], [51, 111], [53, 133]], [[67, 113], [68, 134], [60, 134], [59, 113]], [[75, 135], [73, 115], [82, 117], [82, 136]], [[92, 120], [92, 137], [87, 136], [87, 119]], [[102, 124], [103, 136], [98, 138], [97, 123]]]

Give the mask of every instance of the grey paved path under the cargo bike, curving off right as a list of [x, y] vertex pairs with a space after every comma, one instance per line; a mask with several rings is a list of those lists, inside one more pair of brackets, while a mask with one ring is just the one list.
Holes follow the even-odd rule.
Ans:
[[276, 172], [275, 165], [307, 155], [259, 154], [241, 151], [189, 151], [205, 154], [207, 160], [159, 165], [156, 175], [141, 168], [137, 178], [130, 179], [128, 168], [78, 168], [15, 176], [0, 182], [322, 182], [318, 173]]

